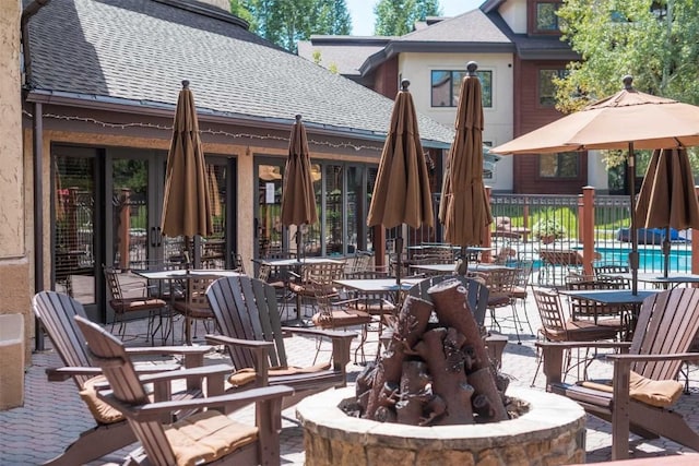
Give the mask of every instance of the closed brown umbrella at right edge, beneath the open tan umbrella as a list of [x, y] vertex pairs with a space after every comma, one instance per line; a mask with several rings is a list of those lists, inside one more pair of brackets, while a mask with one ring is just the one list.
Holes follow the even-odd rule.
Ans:
[[699, 228], [699, 203], [686, 150], [653, 151], [638, 194], [636, 216], [639, 226], [665, 228], [663, 274], [666, 277], [671, 228]]

